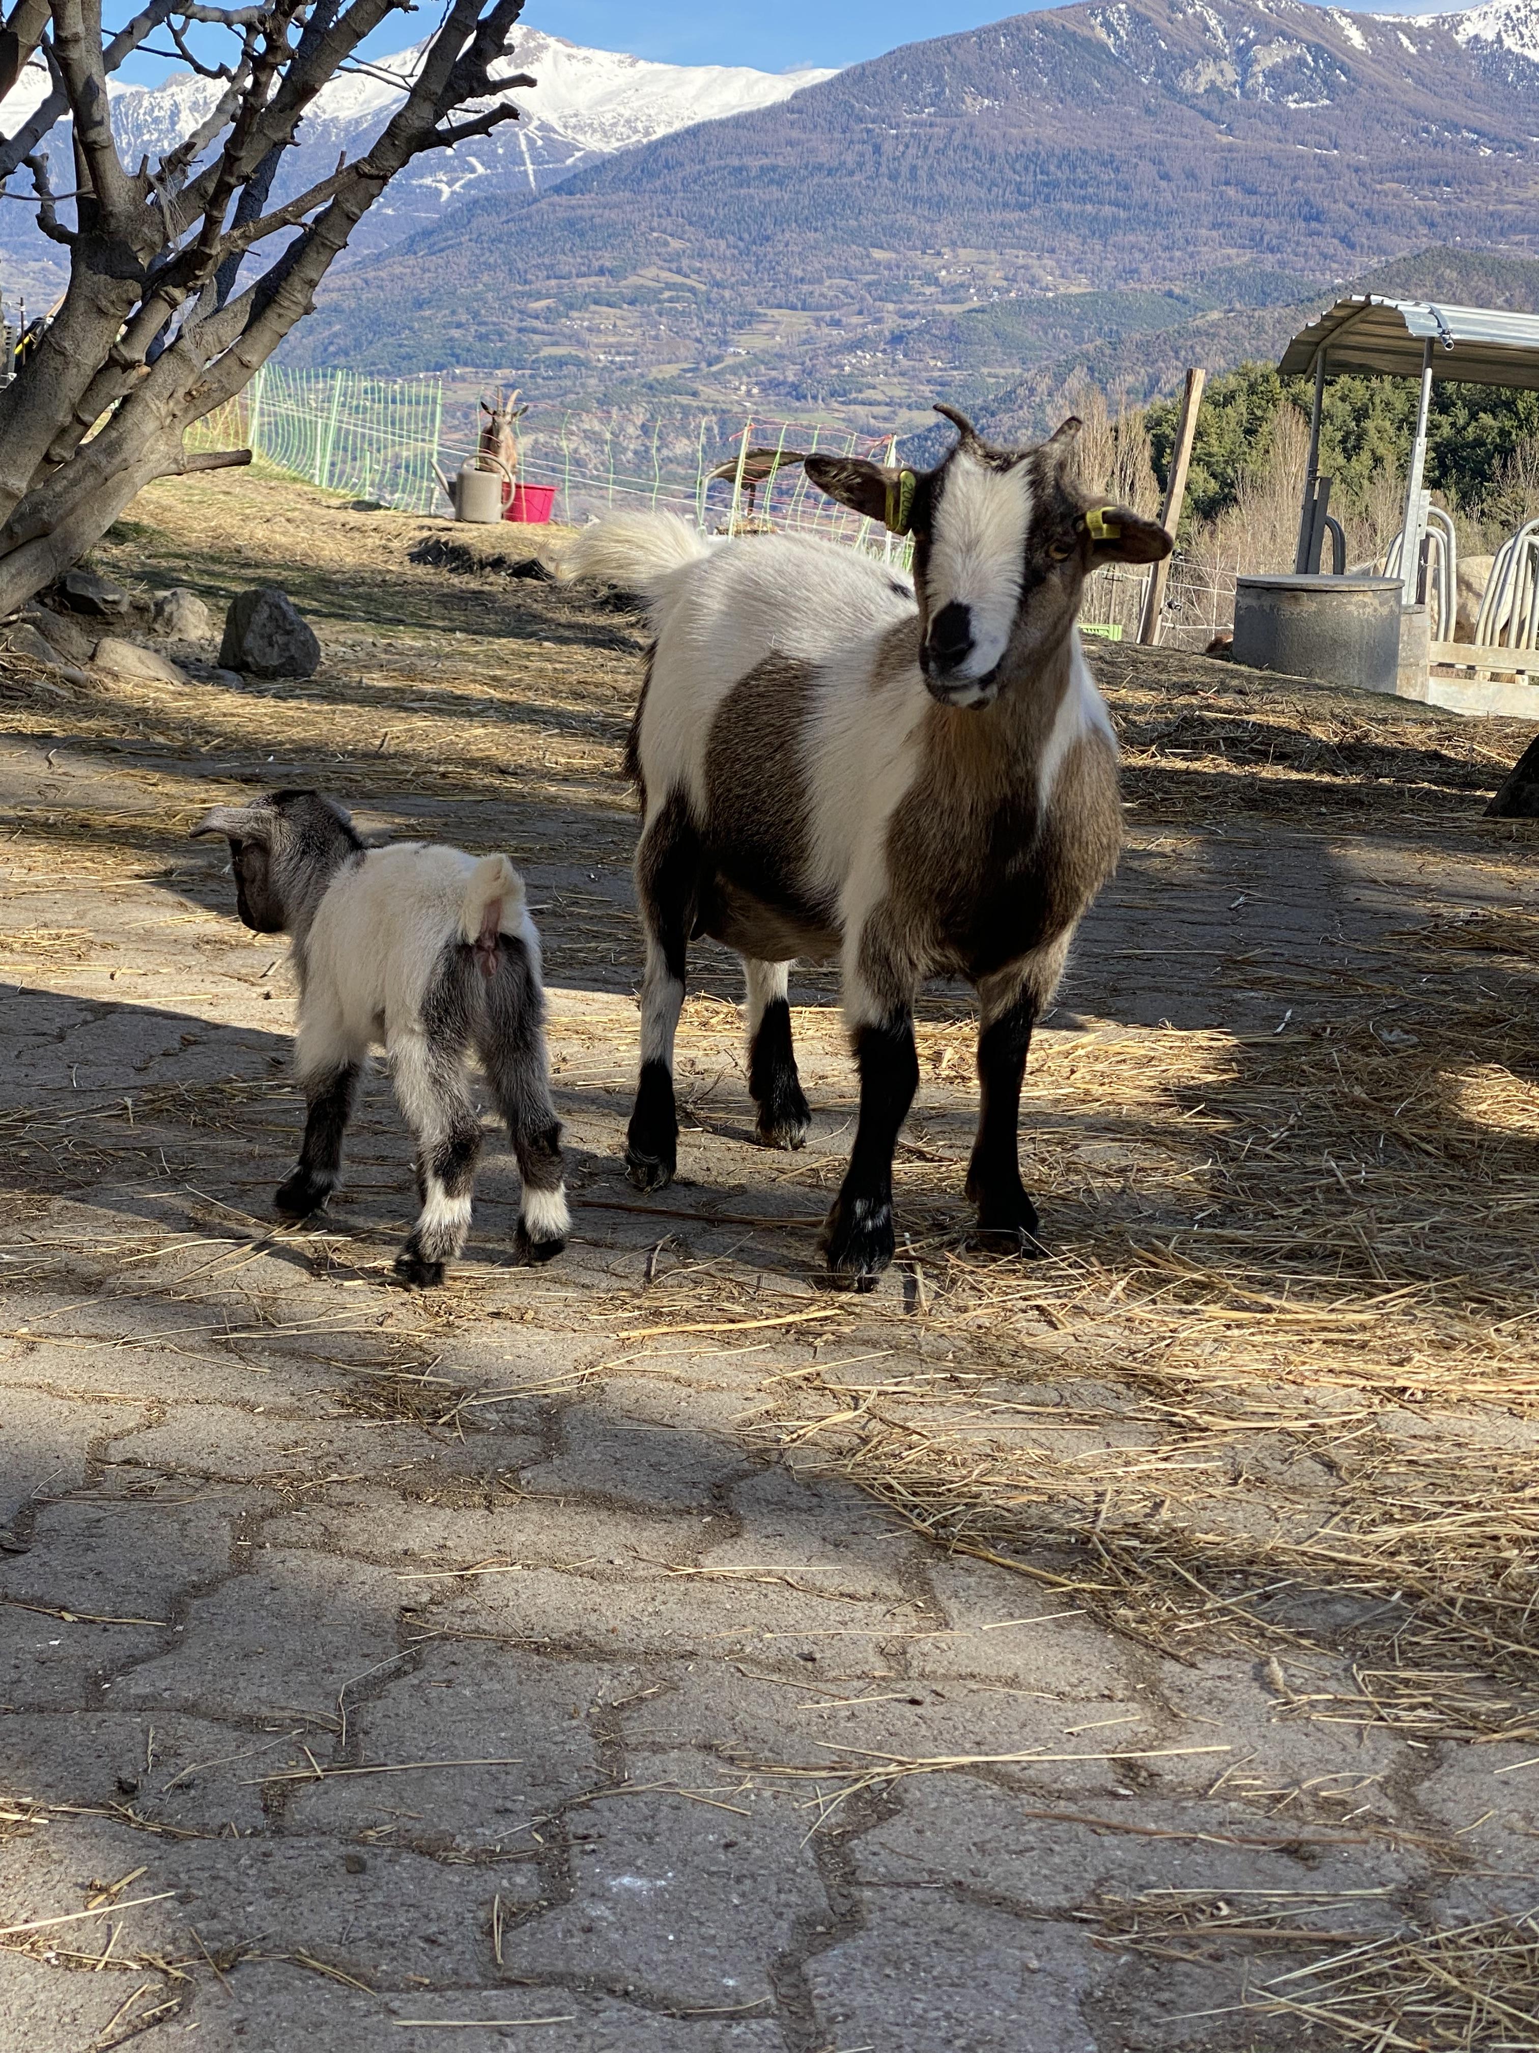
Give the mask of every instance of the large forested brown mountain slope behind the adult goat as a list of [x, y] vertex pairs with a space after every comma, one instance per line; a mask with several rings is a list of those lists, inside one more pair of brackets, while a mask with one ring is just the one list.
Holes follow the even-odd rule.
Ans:
[[993, 298], [1539, 248], [1539, 6], [1477, 16], [1088, 0], [917, 43], [511, 230], [472, 201], [337, 279], [295, 349], [891, 413], [923, 367], [899, 337]]

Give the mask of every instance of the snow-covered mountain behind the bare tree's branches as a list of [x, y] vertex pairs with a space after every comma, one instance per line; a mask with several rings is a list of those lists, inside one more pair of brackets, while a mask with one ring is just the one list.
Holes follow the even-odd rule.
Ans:
[[[365, 150], [400, 105], [402, 86], [415, 76], [421, 57], [419, 43], [332, 78], [300, 127], [273, 197], [293, 197], [328, 177], [339, 150], [349, 156]], [[583, 49], [534, 29], [519, 33], [513, 53], [497, 68], [503, 78], [517, 72], [529, 72], [538, 80], [536, 88], [507, 94], [519, 109], [519, 119], [458, 150], [435, 150], [419, 158], [363, 218], [349, 255], [363, 255], [437, 222], [449, 201], [470, 193], [505, 193], [509, 203], [521, 203], [616, 150], [655, 142], [698, 121], [774, 107], [802, 86], [833, 76], [823, 70], [774, 74], [726, 64], [653, 64], [611, 49]], [[12, 92], [0, 101], [0, 135], [14, 133], [45, 94], [47, 72], [41, 64], [27, 66]], [[109, 94], [123, 160], [137, 164], [142, 156], [154, 162], [189, 135], [215, 107], [220, 86], [191, 72], [172, 72], [158, 86], [109, 82]], [[43, 148], [57, 158], [64, 131], [53, 131]], [[18, 183], [16, 191], [21, 189]], [[53, 273], [62, 279], [55, 246], [37, 236], [25, 207], [4, 207], [0, 216], [0, 263], [6, 271], [18, 275], [18, 265], [25, 265], [29, 277], [37, 273], [33, 292]], [[0, 285], [6, 283], [0, 277]], [[14, 277], [10, 283], [14, 289]]]

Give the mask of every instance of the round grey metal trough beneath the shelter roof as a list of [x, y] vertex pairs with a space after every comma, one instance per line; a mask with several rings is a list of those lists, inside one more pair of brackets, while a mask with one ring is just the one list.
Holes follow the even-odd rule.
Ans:
[[1397, 577], [1239, 577], [1235, 663], [1393, 692], [1402, 597]]

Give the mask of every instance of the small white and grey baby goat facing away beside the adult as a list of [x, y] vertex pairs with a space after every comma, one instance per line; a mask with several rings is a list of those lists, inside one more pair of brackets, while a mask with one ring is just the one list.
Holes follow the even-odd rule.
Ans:
[[220, 805], [193, 834], [230, 842], [246, 926], [293, 940], [293, 1055], [308, 1119], [277, 1209], [302, 1219], [337, 1189], [357, 1080], [380, 1041], [417, 1139], [423, 1205], [396, 1275], [441, 1283], [470, 1230], [480, 1154], [466, 1088], [474, 1047], [523, 1172], [517, 1248], [529, 1261], [560, 1254], [566, 1193], [546, 1072], [540, 936], [507, 856], [476, 860], [427, 842], [365, 848], [347, 811], [314, 790]]

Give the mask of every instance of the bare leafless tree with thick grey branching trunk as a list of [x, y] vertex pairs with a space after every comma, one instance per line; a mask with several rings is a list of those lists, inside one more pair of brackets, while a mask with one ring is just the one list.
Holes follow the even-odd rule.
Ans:
[[[18, 74], [35, 51], [55, 90], [37, 117], [0, 138], [0, 185], [27, 168], [39, 228], [70, 250], [70, 285], [21, 374], [0, 390], [0, 618], [78, 563], [152, 478], [248, 460], [248, 452], [187, 458], [183, 435], [234, 398], [312, 310], [326, 269], [404, 164], [517, 119], [497, 94], [534, 80], [492, 78], [492, 66], [523, 0], [449, 0], [410, 88], [363, 156], [263, 211], [316, 92], [349, 66], [365, 35], [406, 6], [148, 0], [103, 41], [101, 0], [14, 0], [0, 23], [0, 92], [6, 68]], [[193, 23], [226, 31], [228, 64], [191, 55]], [[222, 82], [222, 96], [160, 164], [129, 172], [111, 133], [107, 76], [156, 29]], [[53, 193], [35, 148], [60, 109], [74, 133], [68, 195]], [[57, 218], [66, 197], [74, 226]], [[285, 230], [291, 240], [273, 253], [271, 238]], [[265, 269], [236, 292], [242, 259], [261, 244], [269, 244]]]

